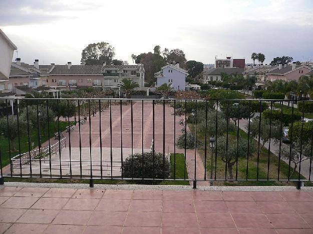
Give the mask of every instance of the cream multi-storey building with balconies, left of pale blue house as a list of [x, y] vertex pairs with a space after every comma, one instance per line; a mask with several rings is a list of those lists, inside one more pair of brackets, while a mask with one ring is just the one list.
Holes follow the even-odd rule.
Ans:
[[139, 84], [137, 90], [144, 90], [145, 69], [143, 64], [136, 65], [113, 65], [103, 64], [103, 88], [118, 89], [122, 79], [132, 79]]

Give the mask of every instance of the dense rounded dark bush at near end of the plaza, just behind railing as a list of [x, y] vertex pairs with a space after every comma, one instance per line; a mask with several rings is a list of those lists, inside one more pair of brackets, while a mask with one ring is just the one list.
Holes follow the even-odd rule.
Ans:
[[144, 152], [143, 162], [142, 168], [142, 153], [133, 154], [133, 158], [130, 154], [123, 162], [123, 177], [168, 178], [170, 176], [170, 162], [165, 157], [165, 165], [163, 167], [163, 153], [155, 152], [153, 158], [152, 152]]

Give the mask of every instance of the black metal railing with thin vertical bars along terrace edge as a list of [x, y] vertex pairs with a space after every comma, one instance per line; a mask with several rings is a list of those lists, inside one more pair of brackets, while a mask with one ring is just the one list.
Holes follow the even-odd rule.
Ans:
[[[14, 100], [20, 111], [0, 120], [2, 179], [186, 180], [194, 187], [197, 181], [296, 181], [298, 187], [312, 181], [313, 119], [305, 106], [313, 100], [0, 100], [7, 107]], [[41, 142], [44, 126], [48, 139]], [[34, 137], [39, 144], [31, 150]]]

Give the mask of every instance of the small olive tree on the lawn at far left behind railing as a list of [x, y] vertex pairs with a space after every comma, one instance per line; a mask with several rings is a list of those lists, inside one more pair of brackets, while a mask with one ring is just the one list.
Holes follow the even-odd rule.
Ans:
[[9, 121], [7, 121], [7, 117], [3, 117], [0, 119], [0, 132], [2, 132], [5, 137], [10, 139], [11, 150], [15, 151], [16, 137], [18, 137], [19, 133], [21, 136], [27, 132], [27, 119], [24, 116], [19, 116], [19, 127], [18, 127], [18, 118], [16, 115], [9, 115]]

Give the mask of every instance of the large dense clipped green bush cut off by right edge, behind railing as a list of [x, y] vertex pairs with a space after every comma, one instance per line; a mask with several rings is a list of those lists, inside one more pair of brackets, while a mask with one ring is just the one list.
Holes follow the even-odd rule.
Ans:
[[[310, 141], [310, 138], [312, 137], [312, 124], [313, 124], [312, 122], [303, 122], [302, 143], [308, 143]], [[302, 127], [301, 121], [293, 123], [292, 142], [297, 142], [298, 140], [301, 140], [301, 127]], [[289, 129], [291, 129], [291, 123], [289, 124]], [[290, 131], [288, 133], [288, 137], [289, 139], [291, 137]]]

